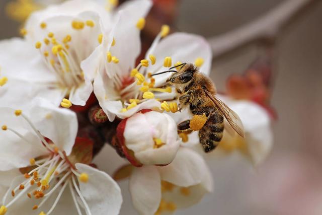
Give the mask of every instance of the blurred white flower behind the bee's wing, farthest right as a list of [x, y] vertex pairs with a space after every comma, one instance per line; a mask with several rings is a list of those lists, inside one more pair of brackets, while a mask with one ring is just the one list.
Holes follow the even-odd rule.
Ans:
[[265, 109], [251, 101], [232, 100], [221, 97], [225, 104], [235, 111], [244, 125], [245, 138], [238, 136], [229, 126], [225, 126], [223, 138], [214, 155], [237, 150], [245, 155], [254, 166], [262, 163], [273, 146], [270, 116]]

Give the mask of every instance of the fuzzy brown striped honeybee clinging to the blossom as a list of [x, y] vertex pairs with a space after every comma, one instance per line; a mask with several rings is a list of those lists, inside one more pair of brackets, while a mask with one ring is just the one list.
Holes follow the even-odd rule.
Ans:
[[[177, 70], [172, 70], [180, 67]], [[171, 67], [167, 71], [162, 71], [152, 76], [173, 72], [174, 74], [167, 80], [167, 84], [174, 86], [179, 96], [179, 110], [189, 106], [194, 115], [204, 115], [206, 122], [199, 130], [200, 144], [206, 153], [212, 151], [219, 144], [225, 127], [224, 118], [228, 126], [244, 137], [244, 128], [238, 115], [232, 111], [221, 100], [216, 98], [216, 88], [214, 83], [202, 73], [199, 68], [192, 63], [182, 63]], [[228, 127], [226, 127], [228, 128]], [[231, 129], [230, 129], [231, 130]], [[190, 119], [178, 124], [178, 132], [191, 132]], [[227, 129], [229, 131], [229, 129]]]

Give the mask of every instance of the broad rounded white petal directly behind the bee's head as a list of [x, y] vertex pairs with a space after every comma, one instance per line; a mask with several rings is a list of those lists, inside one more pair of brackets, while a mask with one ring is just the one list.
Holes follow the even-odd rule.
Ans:
[[[212, 60], [212, 52], [208, 42], [201, 36], [187, 33], [174, 33], [161, 40], [155, 50], [148, 50], [147, 54], [154, 54], [156, 63], [149, 66], [150, 71], [165, 71], [168, 67], [164, 67], [164, 59], [167, 56], [172, 57], [172, 63], [177, 61], [194, 63], [197, 58], [204, 60], [200, 71], [205, 75], [209, 75]], [[148, 57], [148, 56], [146, 56]], [[148, 58], [147, 58], [148, 59]], [[166, 82], [171, 74], [166, 73], [154, 76], [155, 85], [159, 86]]]

